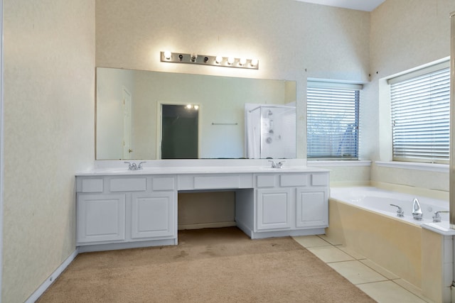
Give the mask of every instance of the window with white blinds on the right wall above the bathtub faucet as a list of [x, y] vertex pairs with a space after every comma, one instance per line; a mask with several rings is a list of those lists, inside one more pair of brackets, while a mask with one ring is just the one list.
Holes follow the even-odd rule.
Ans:
[[388, 82], [393, 160], [449, 163], [449, 62]]

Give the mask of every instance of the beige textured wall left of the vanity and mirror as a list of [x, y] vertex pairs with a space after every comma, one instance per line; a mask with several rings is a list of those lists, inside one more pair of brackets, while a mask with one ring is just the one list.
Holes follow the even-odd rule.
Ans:
[[24, 302], [75, 250], [94, 94], [93, 1], [4, 0], [2, 302]]

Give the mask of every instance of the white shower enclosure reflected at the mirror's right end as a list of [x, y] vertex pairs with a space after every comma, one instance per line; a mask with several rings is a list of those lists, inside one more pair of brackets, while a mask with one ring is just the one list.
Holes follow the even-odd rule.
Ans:
[[296, 158], [296, 107], [245, 104], [247, 158]]

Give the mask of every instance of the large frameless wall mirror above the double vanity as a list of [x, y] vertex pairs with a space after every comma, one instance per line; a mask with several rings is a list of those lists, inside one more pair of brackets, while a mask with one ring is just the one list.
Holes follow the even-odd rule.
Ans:
[[[96, 95], [97, 160], [161, 159], [161, 143], [169, 141], [163, 136], [188, 138], [166, 127], [189, 128], [189, 123], [197, 132], [192, 139], [197, 142], [191, 142], [197, 158], [296, 155], [294, 81], [97, 67]], [[189, 116], [196, 119], [189, 121]], [[261, 153], [266, 145], [284, 152], [275, 157]]]

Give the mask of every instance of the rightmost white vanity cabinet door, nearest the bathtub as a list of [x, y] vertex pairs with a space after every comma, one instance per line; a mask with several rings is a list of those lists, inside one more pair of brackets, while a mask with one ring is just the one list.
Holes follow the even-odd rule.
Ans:
[[297, 189], [296, 226], [328, 226], [328, 194], [325, 189]]

